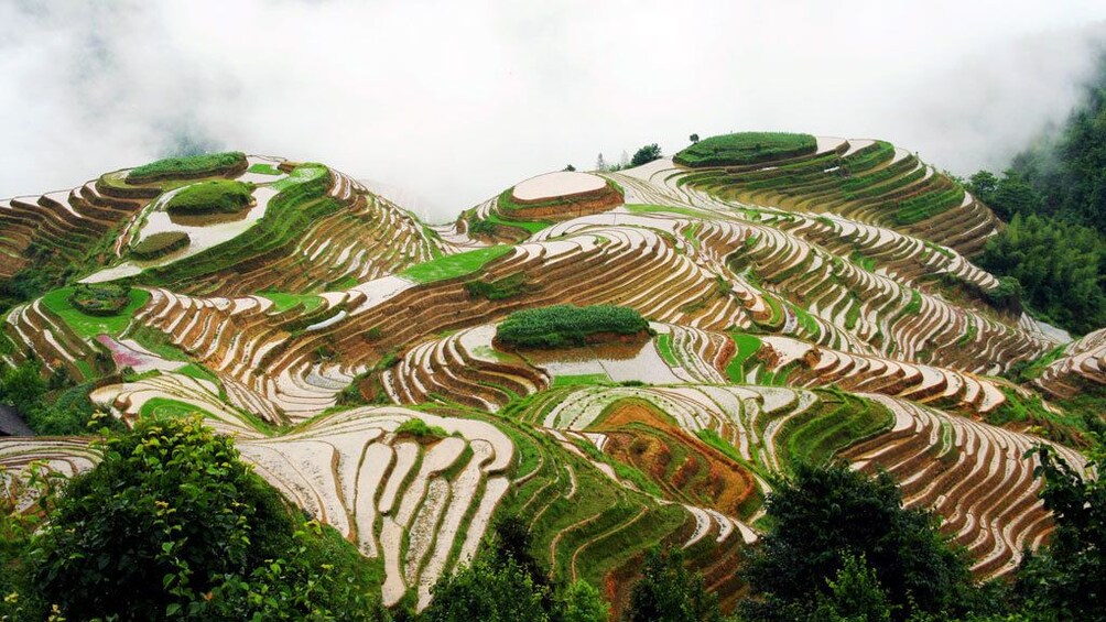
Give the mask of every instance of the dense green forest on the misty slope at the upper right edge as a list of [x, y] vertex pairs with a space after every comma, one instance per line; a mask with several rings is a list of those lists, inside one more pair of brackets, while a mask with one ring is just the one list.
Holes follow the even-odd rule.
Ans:
[[1016, 277], [1031, 310], [1050, 321], [1078, 333], [1106, 326], [1106, 56], [1057, 136], [1001, 178], [973, 175], [968, 188], [1010, 221], [980, 264]]

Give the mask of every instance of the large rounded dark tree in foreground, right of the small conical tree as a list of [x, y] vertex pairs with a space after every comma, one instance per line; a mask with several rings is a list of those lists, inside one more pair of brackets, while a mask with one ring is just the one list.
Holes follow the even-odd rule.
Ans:
[[870, 566], [896, 620], [970, 604], [966, 556], [940, 535], [930, 512], [902, 507], [889, 475], [869, 478], [844, 462], [800, 463], [793, 471], [768, 496], [771, 528], [745, 565], [750, 620], [793, 619], [794, 608], [831, 597], [826, 580], [851, 556]]

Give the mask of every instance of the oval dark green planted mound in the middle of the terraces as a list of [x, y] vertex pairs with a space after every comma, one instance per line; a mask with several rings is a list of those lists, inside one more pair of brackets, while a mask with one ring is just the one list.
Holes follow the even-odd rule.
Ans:
[[517, 348], [565, 348], [595, 342], [604, 335], [648, 331], [641, 314], [628, 307], [554, 305], [515, 312], [495, 330], [495, 340]]

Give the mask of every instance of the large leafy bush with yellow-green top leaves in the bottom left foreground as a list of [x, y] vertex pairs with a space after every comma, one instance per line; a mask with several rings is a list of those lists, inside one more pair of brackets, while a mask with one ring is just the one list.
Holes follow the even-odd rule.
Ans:
[[34, 584], [65, 615], [347, 620], [378, 610], [368, 562], [306, 523], [200, 418], [142, 420], [103, 452], [36, 542]]

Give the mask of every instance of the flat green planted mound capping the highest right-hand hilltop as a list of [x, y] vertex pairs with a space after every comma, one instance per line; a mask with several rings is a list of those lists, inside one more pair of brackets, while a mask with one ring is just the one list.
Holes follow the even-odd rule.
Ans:
[[810, 134], [782, 131], [742, 131], [700, 140], [676, 154], [674, 160], [688, 167], [755, 165], [806, 156], [817, 150]]

